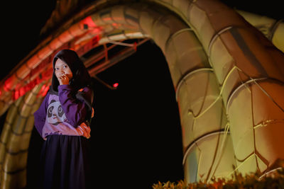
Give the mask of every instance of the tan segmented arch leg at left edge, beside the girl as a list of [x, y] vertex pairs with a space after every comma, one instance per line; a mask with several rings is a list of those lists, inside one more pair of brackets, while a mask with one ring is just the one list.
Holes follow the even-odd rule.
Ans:
[[[24, 188], [28, 146], [33, 130], [33, 113], [40, 105], [40, 89], [43, 84], [16, 101], [9, 108], [1, 132], [0, 168], [1, 188]], [[41, 91], [42, 92], [42, 91]]]

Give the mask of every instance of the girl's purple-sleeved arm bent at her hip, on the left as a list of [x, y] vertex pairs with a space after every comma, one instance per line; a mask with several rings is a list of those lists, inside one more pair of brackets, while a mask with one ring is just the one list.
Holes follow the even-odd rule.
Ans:
[[46, 94], [43, 102], [40, 104], [40, 108], [33, 113], [33, 117], [35, 119], [35, 128], [38, 130], [38, 133], [41, 137], [43, 134], [43, 126], [45, 125], [45, 118], [46, 118], [46, 109], [48, 108], [48, 98], [49, 93]]

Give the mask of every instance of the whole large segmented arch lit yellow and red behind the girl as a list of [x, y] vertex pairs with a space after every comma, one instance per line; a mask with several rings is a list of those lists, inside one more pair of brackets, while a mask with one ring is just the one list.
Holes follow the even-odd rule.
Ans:
[[[247, 21], [253, 18], [251, 23], [259, 18], [239, 13]], [[266, 36], [283, 50], [283, 23], [267, 18], [261, 24], [272, 28], [261, 27], [263, 32], [272, 31]], [[187, 183], [230, 176], [234, 171], [265, 173], [278, 167], [272, 164], [284, 154], [268, 135], [282, 139], [277, 133], [283, 132], [280, 73], [284, 71], [284, 57], [262, 34], [218, 1], [123, 5], [96, 1], [40, 43], [1, 83], [1, 113], [9, 108], [1, 133], [1, 188], [26, 185], [32, 113], [40, 104], [40, 98], [35, 97], [42, 97], [50, 84], [53, 55], [68, 47], [83, 56], [107, 42], [131, 38], [153, 39], [167, 59], [180, 109]], [[89, 57], [84, 63], [92, 64], [93, 59]], [[89, 72], [94, 76], [109, 66], [111, 63], [104, 62]], [[246, 107], [240, 110], [239, 104]], [[269, 145], [261, 141], [256, 143], [259, 136], [268, 136], [263, 141], [275, 149], [265, 149]]]

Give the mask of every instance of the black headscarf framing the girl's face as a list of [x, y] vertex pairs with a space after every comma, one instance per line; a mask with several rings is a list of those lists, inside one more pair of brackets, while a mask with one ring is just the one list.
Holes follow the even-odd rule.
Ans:
[[89, 75], [84, 63], [74, 50], [60, 50], [53, 58], [53, 78], [51, 81], [51, 91], [58, 92], [59, 81], [55, 75], [55, 62], [61, 59], [70, 67], [73, 77], [69, 84], [77, 91], [85, 86], [92, 87], [92, 78]]

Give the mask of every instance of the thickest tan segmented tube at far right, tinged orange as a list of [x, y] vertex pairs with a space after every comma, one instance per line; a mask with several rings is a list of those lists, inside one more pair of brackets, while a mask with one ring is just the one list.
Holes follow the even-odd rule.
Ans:
[[[284, 55], [219, 1], [182, 1], [222, 91], [236, 171], [265, 173], [284, 159]], [[226, 81], [226, 82], [225, 82]]]

